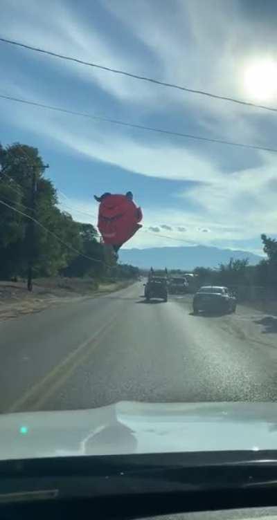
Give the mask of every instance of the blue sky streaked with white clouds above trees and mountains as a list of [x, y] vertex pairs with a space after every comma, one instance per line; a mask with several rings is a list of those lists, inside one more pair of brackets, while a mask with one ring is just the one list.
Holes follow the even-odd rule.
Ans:
[[[269, 91], [265, 82], [260, 85], [260, 77], [265, 77], [265, 64], [275, 67], [274, 13], [274, 2], [256, 0], [1, 0], [0, 35], [272, 106], [277, 105], [277, 73], [268, 78]], [[276, 147], [277, 115], [268, 111], [7, 44], [0, 44], [0, 60], [3, 95]], [[118, 127], [5, 100], [0, 100], [0, 124], [3, 145], [17, 141], [39, 149], [50, 165], [47, 175], [57, 187], [60, 206], [75, 219], [96, 223], [93, 194], [131, 189], [143, 208], [144, 231], [127, 247], [181, 245], [183, 240], [184, 245], [258, 252], [260, 233], [275, 236], [276, 154]]]

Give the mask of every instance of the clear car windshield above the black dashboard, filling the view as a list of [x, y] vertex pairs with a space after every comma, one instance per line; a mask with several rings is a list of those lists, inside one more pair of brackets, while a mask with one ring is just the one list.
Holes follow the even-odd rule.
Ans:
[[0, 461], [277, 449], [276, 15], [1, 0]]

